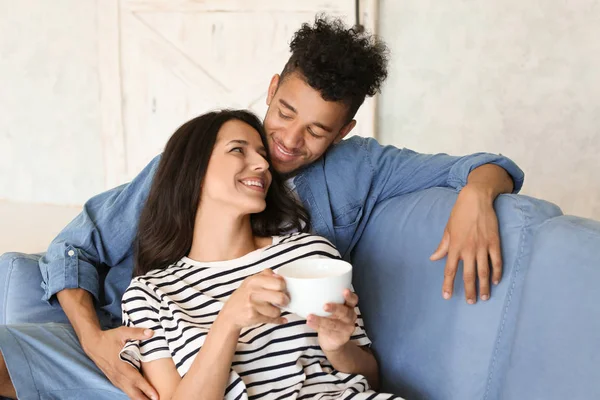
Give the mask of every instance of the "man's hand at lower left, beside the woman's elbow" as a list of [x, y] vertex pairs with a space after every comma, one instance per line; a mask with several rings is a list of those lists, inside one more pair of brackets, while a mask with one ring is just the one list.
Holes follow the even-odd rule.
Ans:
[[121, 361], [119, 352], [127, 340], [152, 337], [150, 329], [119, 327], [98, 334], [82, 343], [85, 353], [104, 375], [132, 400], [158, 400], [158, 393], [131, 365]]

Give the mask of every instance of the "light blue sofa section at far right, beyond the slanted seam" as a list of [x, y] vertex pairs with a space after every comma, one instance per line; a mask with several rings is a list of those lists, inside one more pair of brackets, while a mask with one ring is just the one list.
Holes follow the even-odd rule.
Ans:
[[600, 222], [546, 221], [533, 241], [502, 399], [600, 399], [599, 283]]

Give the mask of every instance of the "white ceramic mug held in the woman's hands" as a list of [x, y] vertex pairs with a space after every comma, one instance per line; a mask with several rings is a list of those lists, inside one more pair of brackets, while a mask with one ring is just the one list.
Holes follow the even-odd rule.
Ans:
[[328, 317], [327, 303], [344, 304], [344, 290], [352, 288], [352, 265], [333, 258], [305, 258], [280, 267], [290, 303], [283, 308], [302, 318], [308, 314]]

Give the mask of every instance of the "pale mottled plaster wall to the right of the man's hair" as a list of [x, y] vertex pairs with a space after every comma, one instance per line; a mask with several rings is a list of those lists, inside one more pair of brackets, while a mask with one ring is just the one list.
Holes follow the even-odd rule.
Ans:
[[600, 219], [600, 1], [381, 0], [379, 137], [502, 153], [523, 193]]

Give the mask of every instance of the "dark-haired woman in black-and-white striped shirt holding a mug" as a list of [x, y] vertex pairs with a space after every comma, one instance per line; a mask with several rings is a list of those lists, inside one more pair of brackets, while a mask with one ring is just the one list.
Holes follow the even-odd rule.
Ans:
[[265, 133], [247, 111], [212, 112], [167, 143], [142, 212], [135, 278], [122, 302], [128, 326], [154, 331], [121, 358], [163, 399], [391, 398], [357, 317], [358, 298], [333, 316], [281, 313], [281, 265], [339, 258], [306, 233], [306, 212], [270, 168]]

